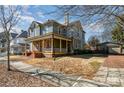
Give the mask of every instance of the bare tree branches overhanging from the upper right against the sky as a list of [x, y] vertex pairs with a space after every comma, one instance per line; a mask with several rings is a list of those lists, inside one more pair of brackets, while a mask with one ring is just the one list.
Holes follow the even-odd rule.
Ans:
[[[62, 18], [64, 13], [68, 12], [70, 17], [80, 19], [83, 25], [103, 24], [104, 31], [106, 34], [109, 30], [112, 30], [116, 24], [116, 19], [119, 19], [121, 26], [124, 27], [124, 19], [122, 14], [124, 13], [124, 6], [115, 5], [63, 5], [54, 6], [56, 10], [49, 12], [48, 14], [55, 14], [57, 18]], [[47, 14], [47, 13], [46, 13]], [[59, 14], [59, 15], [58, 15]], [[94, 26], [92, 25], [92, 26]], [[110, 32], [110, 31], [109, 31]], [[110, 33], [109, 33], [110, 34]], [[107, 37], [111, 39], [110, 37]]]

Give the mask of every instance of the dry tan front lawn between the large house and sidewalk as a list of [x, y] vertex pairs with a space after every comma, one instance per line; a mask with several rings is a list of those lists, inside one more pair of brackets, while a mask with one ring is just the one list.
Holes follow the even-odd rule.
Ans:
[[86, 62], [82, 58], [74, 57], [61, 57], [55, 61], [50, 58], [35, 58], [25, 63], [65, 74], [81, 75], [88, 79], [92, 79], [101, 65], [97, 61]]

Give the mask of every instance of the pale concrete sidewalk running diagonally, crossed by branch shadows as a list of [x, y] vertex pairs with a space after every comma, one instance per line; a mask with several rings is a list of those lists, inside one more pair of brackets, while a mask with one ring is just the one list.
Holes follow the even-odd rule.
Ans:
[[11, 65], [28, 74], [37, 76], [38, 78], [49, 82], [55, 86], [63, 87], [106, 87], [109, 86], [104, 83], [95, 82], [88, 79], [83, 79], [81, 76], [68, 76], [63, 73], [49, 71], [34, 67], [23, 62], [11, 62]]

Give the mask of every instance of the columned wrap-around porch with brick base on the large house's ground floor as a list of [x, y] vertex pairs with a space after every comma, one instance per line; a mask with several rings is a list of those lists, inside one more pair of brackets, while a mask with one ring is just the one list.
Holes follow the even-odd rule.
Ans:
[[71, 40], [61, 37], [41, 38], [31, 42], [31, 54], [36, 57], [54, 57], [71, 53]]

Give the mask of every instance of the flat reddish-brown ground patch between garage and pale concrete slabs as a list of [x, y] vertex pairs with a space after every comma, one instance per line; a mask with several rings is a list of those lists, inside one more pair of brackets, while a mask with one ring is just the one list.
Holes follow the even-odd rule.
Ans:
[[123, 55], [108, 56], [103, 66], [111, 68], [124, 68], [124, 56]]

